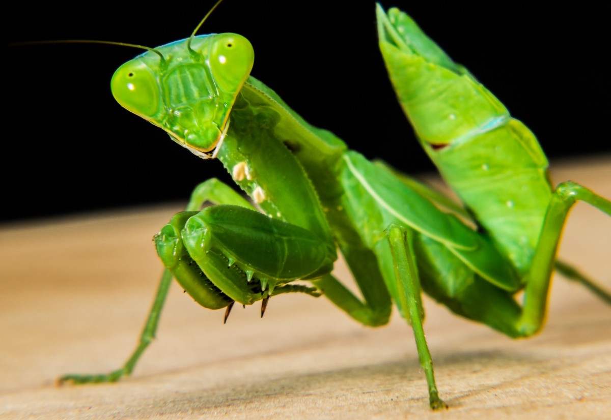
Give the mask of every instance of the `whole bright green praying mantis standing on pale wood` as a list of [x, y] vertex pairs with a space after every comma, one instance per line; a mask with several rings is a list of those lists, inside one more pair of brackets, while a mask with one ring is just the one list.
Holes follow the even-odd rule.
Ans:
[[[542, 327], [554, 268], [611, 303], [555, 262], [571, 206], [582, 200], [611, 215], [611, 202], [579, 184], [552, 186], [526, 126], [408, 15], [380, 5], [376, 13], [401, 106], [462, 204], [306, 123], [250, 76], [246, 38], [205, 35], [152, 49], [116, 71], [116, 100], [192, 153], [221, 161], [252, 204], [216, 179], [197, 186], [186, 211], [155, 237], [166, 271], [133, 355], [109, 374], [62, 381], [130, 374], [155, 335], [173, 277], [200, 305], [225, 308], [225, 319], [235, 302], [261, 300], [263, 313], [270, 297], [289, 292], [322, 294], [370, 326], [386, 324], [397, 305], [414, 331], [434, 409], [447, 406], [425, 340], [423, 291], [516, 338]], [[214, 205], [202, 210], [207, 202]], [[338, 252], [362, 297], [331, 274]]]

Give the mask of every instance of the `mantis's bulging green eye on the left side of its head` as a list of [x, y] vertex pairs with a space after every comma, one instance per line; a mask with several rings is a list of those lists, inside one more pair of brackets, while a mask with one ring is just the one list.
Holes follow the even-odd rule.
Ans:
[[112, 96], [125, 109], [144, 118], [159, 110], [159, 87], [152, 71], [144, 63], [129, 61], [112, 75]]

